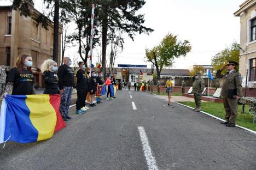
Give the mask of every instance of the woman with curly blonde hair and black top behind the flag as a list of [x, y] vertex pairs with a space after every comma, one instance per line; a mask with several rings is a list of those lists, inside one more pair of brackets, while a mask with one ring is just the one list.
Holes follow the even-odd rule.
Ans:
[[57, 63], [54, 60], [45, 60], [41, 66], [43, 81], [45, 83], [44, 94], [60, 94], [58, 88]]

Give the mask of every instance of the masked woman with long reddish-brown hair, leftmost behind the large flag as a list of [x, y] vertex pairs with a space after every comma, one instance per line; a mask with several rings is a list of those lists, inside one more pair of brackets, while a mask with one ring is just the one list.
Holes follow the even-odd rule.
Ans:
[[34, 75], [31, 71], [33, 65], [32, 57], [28, 54], [20, 54], [16, 60], [15, 67], [10, 69], [7, 77], [5, 93], [11, 95], [36, 94], [34, 89]]

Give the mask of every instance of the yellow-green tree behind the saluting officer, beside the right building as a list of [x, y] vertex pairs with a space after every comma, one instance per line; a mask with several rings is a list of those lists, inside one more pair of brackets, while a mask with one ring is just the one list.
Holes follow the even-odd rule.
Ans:
[[[229, 47], [226, 47], [224, 50], [217, 53], [212, 58], [212, 65], [214, 70], [221, 69], [222, 66], [228, 63], [228, 60], [234, 60], [239, 63], [240, 59], [240, 45], [236, 42], [232, 43]], [[236, 66], [238, 71], [238, 65]]]

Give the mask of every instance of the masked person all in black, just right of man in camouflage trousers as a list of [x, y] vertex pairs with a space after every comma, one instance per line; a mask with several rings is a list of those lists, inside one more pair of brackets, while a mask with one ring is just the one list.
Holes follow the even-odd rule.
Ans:
[[77, 107], [77, 114], [84, 114], [86, 111], [85, 108], [85, 98], [87, 94], [87, 77], [85, 75], [85, 64], [84, 62], [79, 62], [78, 63], [79, 70], [77, 71], [77, 102], [76, 102], [76, 107]]

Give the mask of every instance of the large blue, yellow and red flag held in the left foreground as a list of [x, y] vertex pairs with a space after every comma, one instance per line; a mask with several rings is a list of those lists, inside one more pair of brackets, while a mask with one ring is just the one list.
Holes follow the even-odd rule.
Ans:
[[7, 95], [0, 114], [0, 143], [30, 143], [53, 136], [66, 126], [60, 111], [60, 95]]

